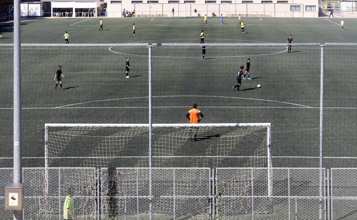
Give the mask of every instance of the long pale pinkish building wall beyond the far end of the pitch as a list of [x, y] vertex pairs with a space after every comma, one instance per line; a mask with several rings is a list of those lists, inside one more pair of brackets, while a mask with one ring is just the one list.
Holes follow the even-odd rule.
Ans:
[[[232, 0], [232, 4], [219, 4], [222, 0], [216, 0], [218, 4], [205, 4], [205, 0], [195, 0], [195, 4], [184, 4], [185, 0], [179, 0], [180, 4], [169, 4], [168, 0], [159, 0], [159, 4], [147, 4], [148, 0], [142, 0], [142, 4], [132, 4], [132, 0], [122, 0], [122, 4], [111, 4], [107, 0], [109, 17], [120, 17], [123, 9], [133, 11], [135, 15], [167, 15], [172, 16], [172, 8], [176, 17], [191, 16], [223, 16], [241, 14], [242, 16], [270, 16], [270, 17], [318, 17], [318, 0], [294, 0], [293, 5], [300, 5], [300, 11], [290, 11], [292, 0], [288, 3], [261, 4], [261, 0], [252, 0], [253, 4], [242, 4], [242, 0]], [[306, 5], [315, 5], [315, 11], [306, 11]], [[194, 10], [197, 10], [195, 14]]]

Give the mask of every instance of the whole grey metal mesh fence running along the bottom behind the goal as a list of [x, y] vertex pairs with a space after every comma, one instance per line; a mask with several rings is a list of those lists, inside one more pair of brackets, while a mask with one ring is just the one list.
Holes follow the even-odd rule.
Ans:
[[[353, 219], [357, 169], [329, 171], [23, 168], [23, 219], [61, 219], [68, 194], [74, 198], [76, 219]], [[4, 189], [12, 181], [12, 168], [0, 169], [0, 180]], [[1, 206], [0, 216], [11, 219], [12, 211]]]

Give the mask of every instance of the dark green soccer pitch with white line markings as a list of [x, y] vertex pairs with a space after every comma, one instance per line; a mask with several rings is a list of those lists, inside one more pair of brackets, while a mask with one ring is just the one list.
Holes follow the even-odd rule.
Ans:
[[[355, 42], [357, 21], [243, 17], [245, 34], [236, 18], [31, 19], [21, 25], [22, 43], [294, 43]], [[132, 24], [136, 35], [132, 35]], [[8, 26], [6, 26], [8, 25]], [[1, 44], [12, 43], [11, 24], [0, 26]], [[355, 87], [356, 46], [325, 48], [324, 166], [352, 167], [357, 154]], [[129, 79], [125, 61], [130, 57]], [[273, 167], [318, 167], [320, 154], [320, 46], [200, 46], [152, 48], [153, 123], [188, 123], [193, 103], [204, 114], [202, 123], [272, 123]], [[12, 166], [12, 47], [0, 47], [1, 167]], [[251, 60], [251, 78], [233, 91], [236, 73]], [[45, 123], [148, 123], [147, 46], [25, 46], [22, 47], [22, 129], [24, 167], [44, 166]], [[62, 66], [64, 91], [55, 90], [55, 72]], [[245, 71], [245, 70], [244, 70]], [[262, 85], [257, 88], [257, 84]], [[112, 133], [115, 133], [112, 131]], [[92, 136], [101, 136], [93, 133]], [[105, 134], [109, 135], [109, 134]], [[217, 133], [216, 135], [220, 135]], [[97, 141], [97, 140], [96, 140]], [[206, 155], [205, 140], [190, 142], [173, 156]], [[248, 140], [246, 140], [248, 142]], [[63, 157], [88, 157], [98, 143], [89, 139], [67, 145]], [[134, 150], [133, 150], [134, 149]], [[240, 156], [250, 156], [247, 149]], [[146, 145], [124, 150], [110, 167], [132, 167], [145, 156]], [[254, 152], [254, 149], [251, 149]], [[247, 159], [237, 159], [236, 167]], [[80, 161], [80, 160], [78, 160]], [[60, 166], [80, 166], [67, 159]], [[164, 164], [163, 167], [169, 166]], [[170, 166], [190, 167], [178, 159]]]

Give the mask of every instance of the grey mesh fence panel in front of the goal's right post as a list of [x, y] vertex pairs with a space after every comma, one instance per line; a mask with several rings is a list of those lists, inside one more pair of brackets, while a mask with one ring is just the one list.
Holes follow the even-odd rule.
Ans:
[[326, 218], [325, 169], [217, 168], [215, 178], [218, 218]]

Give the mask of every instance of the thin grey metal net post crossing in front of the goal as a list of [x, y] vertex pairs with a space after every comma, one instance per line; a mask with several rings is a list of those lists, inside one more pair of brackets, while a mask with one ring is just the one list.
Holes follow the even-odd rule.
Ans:
[[149, 45], [149, 220], [152, 220], [152, 45]]

